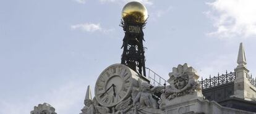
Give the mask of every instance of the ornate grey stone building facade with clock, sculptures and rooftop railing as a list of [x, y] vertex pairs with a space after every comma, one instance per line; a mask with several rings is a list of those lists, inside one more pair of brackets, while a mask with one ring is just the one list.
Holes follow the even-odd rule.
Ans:
[[[253, 114], [256, 83], [246, 64], [242, 43], [234, 72], [209, 79], [200, 79], [197, 71], [184, 63], [173, 67], [168, 84], [153, 85], [150, 77], [142, 77], [126, 65], [114, 64], [98, 78], [95, 93], [100, 94], [92, 97], [88, 86], [80, 114]], [[116, 83], [119, 79], [123, 83]], [[30, 114], [56, 113], [51, 105], [39, 104]]]

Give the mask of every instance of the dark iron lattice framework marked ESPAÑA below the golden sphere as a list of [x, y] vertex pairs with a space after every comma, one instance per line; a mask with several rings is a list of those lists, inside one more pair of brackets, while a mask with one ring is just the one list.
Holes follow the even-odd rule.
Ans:
[[143, 47], [145, 23], [138, 23], [134, 18], [128, 17], [121, 20], [124, 30], [124, 39], [122, 47], [121, 63], [127, 65], [132, 70], [137, 71], [140, 75], [146, 76], [145, 71], [145, 51]]

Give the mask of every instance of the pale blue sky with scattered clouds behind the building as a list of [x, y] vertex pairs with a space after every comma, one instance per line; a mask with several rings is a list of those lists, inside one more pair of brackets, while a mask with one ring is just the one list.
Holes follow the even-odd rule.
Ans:
[[[233, 71], [243, 42], [256, 75], [254, 0], [140, 0], [148, 9], [146, 66], [168, 79], [188, 63], [200, 76]], [[80, 113], [88, 85], [121, 62], [119, 26], [129, 0], [0, 1], [0, 114], [47, 102]], [[93, 92], [94, 93], [94, 92]]]

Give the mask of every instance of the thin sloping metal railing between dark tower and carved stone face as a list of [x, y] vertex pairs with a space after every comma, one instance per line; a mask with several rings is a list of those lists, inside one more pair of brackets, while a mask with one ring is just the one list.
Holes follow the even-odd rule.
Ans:
[[147, 78], [150, 79], [150, 84], [152, 86], [166, 86], [166, 80], [163, 79], [160, 75], [155, 73], [155, 71], [151, 70], [150, 68], [147, 68], [148, 75]]

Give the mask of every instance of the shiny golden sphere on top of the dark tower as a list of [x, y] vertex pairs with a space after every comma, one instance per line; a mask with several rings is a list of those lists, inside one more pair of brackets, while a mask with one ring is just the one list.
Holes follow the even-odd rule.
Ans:
[[122, 18], [126, 21], [127, 18], [133, 18], [135, 22], [145, 23], [148, 18], [146, 7], [140, 2], [128, 2], [122, 8]]

